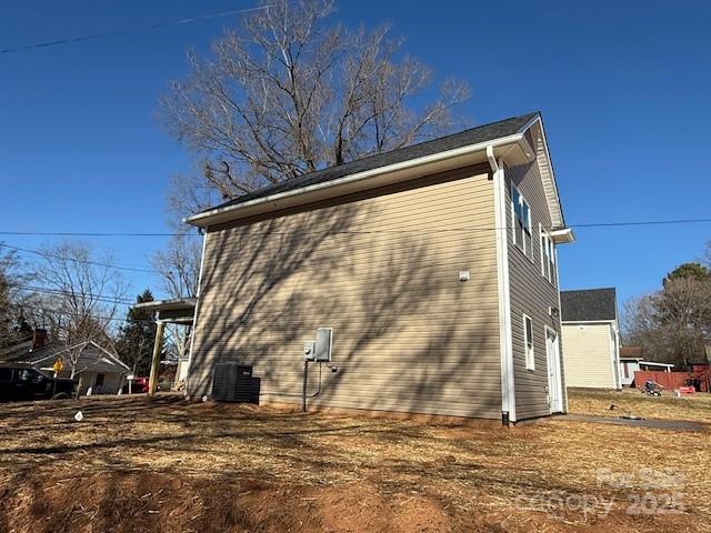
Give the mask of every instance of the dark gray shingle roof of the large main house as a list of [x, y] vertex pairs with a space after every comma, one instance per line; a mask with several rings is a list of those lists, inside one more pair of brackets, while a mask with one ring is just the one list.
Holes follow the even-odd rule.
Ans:
[[479, 144], [487, 141], [493, 141], [494, 139], [513, 135], [515, 133], [519, 133], [525, 124], [528, 124], [531, 120], [539, 115], [540, 113], [537, 111], [534, 113], [522, 114], [520, 117], [512, 117], [505, 120], [500, 120], [498, 122], [492, 122], [490, 124], [483, 124], [477, 128], [471, 128], [469, 130], [460, 131], [459, 133], [453, 133], [451, 135], [433, 139], [431, 141], [412, 144], [399, 150], [358, 159], [356, 161], [339, 164], [337, 167], [329, 167], [328, 169], [318, 170], [316, 172], [292, 178], [276, 185], [266, 187], [252, 193], [244, 194], [242, 197], [236, 198], [234, 200], [224, 202], [220, 205], [216, 205], [214, 208], [211, 208], [207, 211], [227, 208], [229, 205], [237, 205], [240, 203], [249, 202], [251, 200], [269, 197], [271, 194], [288, 192], [307, 185], [313, 185], [316, 183], [326, 183], [349, 174], [354, 174], [357, 172], [364, 172], [367, 170], [378, 169], [380, 167], [387, 167], [389, 164], [400, 163], [402, 161], [409, 161], [411, 159], [432, 155], [434, 153], [455, 150], [458, 148], [467, 147], [470, 144]]

